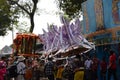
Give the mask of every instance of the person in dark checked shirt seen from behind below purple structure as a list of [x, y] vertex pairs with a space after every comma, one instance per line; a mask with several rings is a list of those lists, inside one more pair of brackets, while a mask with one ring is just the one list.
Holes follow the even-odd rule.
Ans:
[[52, 61], [52, 57], [48, 57], [48, 61], [44, 66], [45, 75], [49, 80], [54, 80], [54, 63]]

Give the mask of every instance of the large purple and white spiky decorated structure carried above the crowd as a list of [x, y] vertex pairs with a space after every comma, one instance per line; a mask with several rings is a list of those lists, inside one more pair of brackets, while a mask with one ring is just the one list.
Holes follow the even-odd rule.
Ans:
[[43, 29], [44, 34], [39, 34], [44, 44], [43, 56], [56, 58], [60, 54], [64, 58], [95, 48], [82, 35], [79, 19], [74, 23], [70, 23], [63, 16], [60, 19], [62, 26], [48, 26], [48, 32]]

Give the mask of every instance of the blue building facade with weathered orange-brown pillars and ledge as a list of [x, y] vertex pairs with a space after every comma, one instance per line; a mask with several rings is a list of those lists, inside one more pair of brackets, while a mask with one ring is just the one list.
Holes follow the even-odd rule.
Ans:
[[[95, 43], [99, 59], [109, 57], [112, 49], [120, 55], [120, 1], [87, 0], [82, 3], [83, 32]], [[120, 69], [118, 70], [118, 72]], [[120, 73], [118, 73], [118, 76]]]

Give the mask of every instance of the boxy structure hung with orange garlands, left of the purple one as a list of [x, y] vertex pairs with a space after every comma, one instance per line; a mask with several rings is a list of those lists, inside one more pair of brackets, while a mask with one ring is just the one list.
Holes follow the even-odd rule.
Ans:
[[35, 47], [36, 44], [36, 38], [38, 38], [38, 36], [33, 34], [17, 34], [17, 37], [13, 40], [16, 52], [18, 52], [18, 54], [32, 53], [32, 48]]

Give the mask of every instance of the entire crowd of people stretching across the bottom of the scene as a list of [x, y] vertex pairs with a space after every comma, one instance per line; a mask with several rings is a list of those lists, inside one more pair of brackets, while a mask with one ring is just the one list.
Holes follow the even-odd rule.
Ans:
[[47, 61], [40, 60], [39, 57], [1, 57], [0, 80], [42, 80], [41, 77], [47, 80], [98, 80], [98, 76], [100, 80], [111, 80], [111, 76], [118, 80], [117, 58], [119, 57], [112, 50], [109, 62], [105, 57], [100, 60], [96, 55], [86, 54], [58, 61], [53, 61], [52, 57], [48, 57]]

